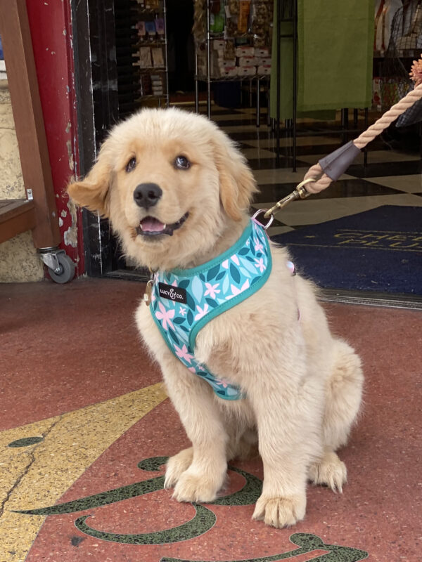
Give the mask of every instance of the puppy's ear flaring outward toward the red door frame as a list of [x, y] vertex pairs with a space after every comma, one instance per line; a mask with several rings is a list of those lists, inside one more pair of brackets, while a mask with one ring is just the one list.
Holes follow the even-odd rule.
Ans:
[[111, 166], [103, 150], [100, 150], [96, 164], [82, 181], [75, 181], [68, 185], [71, 199], [90, 211], [98, 211], [100, 216], [108, 218]]

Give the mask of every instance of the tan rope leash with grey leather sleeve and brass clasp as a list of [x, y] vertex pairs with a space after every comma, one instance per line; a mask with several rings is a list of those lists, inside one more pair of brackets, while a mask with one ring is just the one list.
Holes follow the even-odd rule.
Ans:
[[[318, 164], [311, 166], [305, 174], [304, 180], [287, 197], [277, 202], [274, 207], [265, 212], [264, 218], [273, 216], [274, 213], [286, 207], [291, 201], [305, 199], [309, 195], [315, 195], [328, 188], [333, 181], [337, 181], [354, 159], [359, 155], [362, 148], [365, 148], [376, 136], [381, 134], [392, 124], [399, 115], [402, 115], [414, 103], [422, 98], [422, 55], [421, 60], [414, 60], [411, 67], [411, 78], [415, 82], [415, 88], [407, 93], [402, 100], [393, 105], [390, 110], [384, 113], [366, 131], [349, 143], [338, 148], [330, 155], [319, 160]], [[306, 185], [306, 187], [305, 187]], [[269, 225], [268, 225], [269, 226]]]

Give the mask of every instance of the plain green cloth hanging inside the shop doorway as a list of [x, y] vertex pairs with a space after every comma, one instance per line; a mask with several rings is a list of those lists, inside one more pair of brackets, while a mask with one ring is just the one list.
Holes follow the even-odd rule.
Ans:
[[[289, 27], [290, 26], [290, 27]], [[282, 32], [291, 24], [282, 23]], [[370, 107], [373, 0], [298, 0], [298, 115]], [[293, 39], [281, 39], [281, 119], [293, 117]], [[276, 115], [276, 0], [271, 117]], [[315, 113], [316, 112], [316, 113]]]

